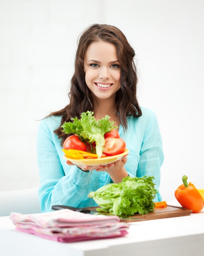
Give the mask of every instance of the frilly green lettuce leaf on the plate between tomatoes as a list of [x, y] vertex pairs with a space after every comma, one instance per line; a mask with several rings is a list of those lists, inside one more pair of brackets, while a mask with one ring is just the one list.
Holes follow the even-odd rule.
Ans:
[[81, 141], [95, 142], [96, 154], [101, 157], [105, 145], [104, 134], [117, 126], [114, 126], [114, 121], [109, 120], [108, 115], [100, 120], [96, 120], [93, 115], [93, 111], [83, 112], [81, 113], [81, 119], [71, 118], [73, 122], [64, 122], [61, 127], [66, 134], [77, 134]]

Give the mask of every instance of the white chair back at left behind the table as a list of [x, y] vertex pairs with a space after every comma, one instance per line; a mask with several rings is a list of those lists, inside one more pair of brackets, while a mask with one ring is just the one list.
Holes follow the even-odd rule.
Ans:
[[11, 212], [22, 214], [40, 213], [38, 188], [0, 191], [0, 216]]

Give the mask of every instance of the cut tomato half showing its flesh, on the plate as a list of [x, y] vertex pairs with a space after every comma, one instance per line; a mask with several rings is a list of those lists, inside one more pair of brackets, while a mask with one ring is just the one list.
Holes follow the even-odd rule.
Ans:
[[121, 138], [107, 137], [103, 153], [108, 156], [118, 155], [125, 151], [126, 144]]

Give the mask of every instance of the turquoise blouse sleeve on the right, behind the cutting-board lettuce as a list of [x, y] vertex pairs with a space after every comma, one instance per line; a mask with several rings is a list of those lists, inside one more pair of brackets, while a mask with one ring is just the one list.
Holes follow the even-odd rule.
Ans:
[[140, 149], [140, 159], [138, 162], [137, 177], [154, 176], [155, 188], [158, 191], [154, 201], [161, 201], [159, 193], [160, 168], [164, 161], [162, 150], [162, 138], [158, 126], [156, 115], [153, 114], [144, 132], [143, 142]]

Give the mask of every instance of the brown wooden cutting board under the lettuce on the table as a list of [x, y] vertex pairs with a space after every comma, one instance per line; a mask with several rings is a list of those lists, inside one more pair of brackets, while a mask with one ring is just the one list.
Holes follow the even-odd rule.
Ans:
[[[97, 208], [99, 207], [90, 207], [88, 209], [90, 209], [91, 211], [94, 211]], [[192, 210], [174, 206], [174, 205], [167, 205], [167, 207], [165, 208], [156, 208], [152, 213], [148, 213], [144, 215], [137, 213], [134, 216], [122, 218], [121, 222], [134, 222], [134, 221], [142, 221], [142, 220], [156, 220], [156, 219], [188, 216], [191, 213], [192, 213]]]

